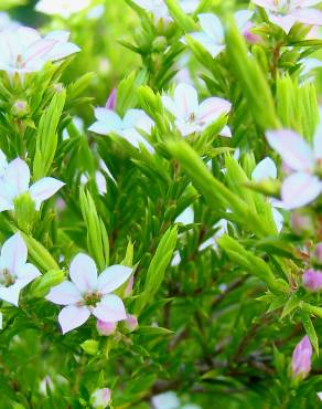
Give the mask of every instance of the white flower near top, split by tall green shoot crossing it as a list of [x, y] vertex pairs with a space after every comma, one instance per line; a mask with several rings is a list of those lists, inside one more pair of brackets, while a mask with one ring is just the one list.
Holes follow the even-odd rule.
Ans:
[[[251, 19], [253, 12], [248, 10], [240, 10], [234, 15], [239, 31], [244, 33], [249, 25], [249, 20]], [[193, 32], [189, 35], [197, 41], [213, 57], [215, 57], [225, 50], [224, 27], [216, 14], [202, 13], [197, 17], [202, 31]]]

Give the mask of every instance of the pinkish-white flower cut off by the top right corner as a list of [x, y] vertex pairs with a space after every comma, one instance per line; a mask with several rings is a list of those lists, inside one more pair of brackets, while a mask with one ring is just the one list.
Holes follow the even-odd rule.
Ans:
[[269, 20], [279, 25], [287, 34], [296, 23], [322, 25], [322, 13], [311, 6], [319, 4], [321, 0], [254, 0], [262, 7]]

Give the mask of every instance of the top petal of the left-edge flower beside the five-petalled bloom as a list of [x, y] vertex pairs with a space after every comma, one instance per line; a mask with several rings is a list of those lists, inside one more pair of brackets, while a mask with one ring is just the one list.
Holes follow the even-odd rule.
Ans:
[[8, 239], [1, 249], [0, 264], [2, 269], [8, 269], [11, 273], [17, 273], [26, 262], [28, 250], [24, 241], [19, 233]]

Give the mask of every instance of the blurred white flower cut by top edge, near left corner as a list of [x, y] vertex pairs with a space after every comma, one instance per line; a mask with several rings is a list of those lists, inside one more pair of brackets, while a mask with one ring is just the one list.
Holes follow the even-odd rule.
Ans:
[[35, 10], [44, 14], [57, 14], [64, 19], [69, 19], [74, 13], [87, 9], [92, 0], [40, 0]]

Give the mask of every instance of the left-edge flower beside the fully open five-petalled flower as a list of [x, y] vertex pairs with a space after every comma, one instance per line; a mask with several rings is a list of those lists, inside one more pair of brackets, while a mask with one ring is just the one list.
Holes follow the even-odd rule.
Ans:
[[23, 287], [41, 275], [40, 271], [26, 262], [28, 250], [19, 233], [8, 239], [0, 255], [0, 298], [18, 306]]

